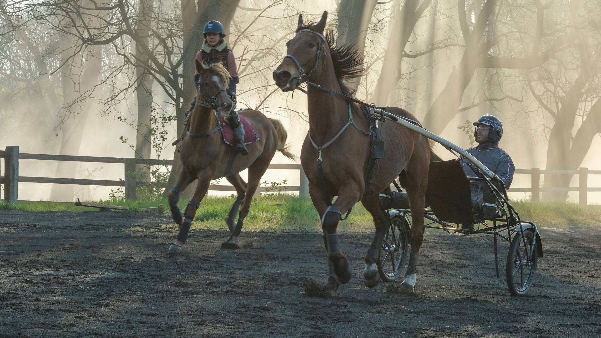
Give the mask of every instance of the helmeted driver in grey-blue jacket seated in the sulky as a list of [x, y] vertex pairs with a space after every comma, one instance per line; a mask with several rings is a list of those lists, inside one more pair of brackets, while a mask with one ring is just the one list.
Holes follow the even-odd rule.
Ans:
[[[513, 173], [516, 167], [511, 161], [508, 153], [499, 148], [499, 140], [503, 135], [503, 125], [501, 121], [493, 115], [484, 115], [478, 118], [474, 123], [474, 138], [478, 143], [477, 147], [466, 149], [466, 152], [482, 162], [487, 168], [498, 176], [509, 189], [513, 180]], [[465, 159], [461, 161], [461, 166], [466, 176], [477, 177], [474, 170], [469, 167], [469, 162]], [[486, 183], [475, 181], [471, 183], [472, 208], [481, 212], [486, 218], [493, 218], [497, 214], [495, 205], [495, 196], [490, 189], [484, 189]], [[395, 207], [398, 209], [409, 209], [409, 199], [406, 192], [394, 191], [390, 188], [382, 192], [382, 206]], [[388, 200], [388, 201], [387, 201]], [[471, 229], [471, 224], [463, 224], [463, 229]]]

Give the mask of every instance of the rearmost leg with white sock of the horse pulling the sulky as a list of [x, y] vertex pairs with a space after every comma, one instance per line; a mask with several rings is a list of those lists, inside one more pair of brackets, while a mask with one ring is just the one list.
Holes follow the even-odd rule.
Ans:
[[[426, 167], [427, 168], [427, 167]], [[415, 171], [412, 171], [415, 172]], [[423, 178], [423, 171], [420, 173]], [[426, 176], [427, 177], [427, 176]], [[426, 186], [427, 182], [415, 182], [414, 177], [407, 175], [407, 197], [409, 197], [409, 208], [411, 209], [411, 253], [409, 255], [409, 267], [401, 287], [410, 292], [415, 289], [415, 281], [417, 280], [416, 266], [418, 260], [418, 252], [421, 243], [424, 240], [424, 204], [426, 203]], [[412, 182], [413, 181], [413, 182]]]

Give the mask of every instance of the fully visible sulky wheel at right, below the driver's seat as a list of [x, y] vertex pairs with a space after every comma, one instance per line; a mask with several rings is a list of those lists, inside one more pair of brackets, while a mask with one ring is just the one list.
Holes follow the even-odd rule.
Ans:
[[532, 246], [532, 241], [534, 241], [532, 229], [525, 229], [523, 236], [516, 232], [511, 239], [505, 273], [507, 274], [507, 286], [514, 296], [525, 295], [534, 281], [538, 252], [536, 244]]

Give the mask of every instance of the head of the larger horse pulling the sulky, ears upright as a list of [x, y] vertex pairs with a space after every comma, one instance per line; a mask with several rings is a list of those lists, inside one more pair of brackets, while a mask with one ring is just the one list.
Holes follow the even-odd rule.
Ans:
[[273, 72], [275, 84], [282, 91], [294, 90], [302, 82], [319, 76], [320, 68], [323, 68], [323, 61], [320, 60], [324, 50], [328, 50], [325, 48], [326, 38], [323, 36], [327, 18], [328, 11], [324, 11], [318, 23], [305, 25], [302, 14], [299, 15], [296, 36], [286, 43], [287, 55]]

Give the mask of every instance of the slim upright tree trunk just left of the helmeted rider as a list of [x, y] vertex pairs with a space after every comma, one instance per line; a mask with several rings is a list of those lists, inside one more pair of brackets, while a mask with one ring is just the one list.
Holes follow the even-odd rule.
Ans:
[[[138, 23], [136, 32], [150, 46], [151, 14], [153, 13], [154, 0], [141, 0], [138, 10]], [[136, 58], [140, 63], [148, 63], [148, 56], [136, 44]], [[138, 101], [138, 121], [136, 124], [136, 149], [135, 158], [150, 159], [151, 156], [151, 128], [154, 78], [145, 67], [136, 67], [136, 100]], [[150, 182], [150, 171], [146, 165], [136, 166], [137, 174], [144, 174], [146, 182]]]

